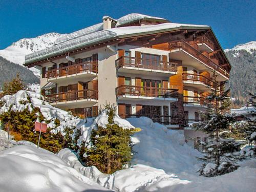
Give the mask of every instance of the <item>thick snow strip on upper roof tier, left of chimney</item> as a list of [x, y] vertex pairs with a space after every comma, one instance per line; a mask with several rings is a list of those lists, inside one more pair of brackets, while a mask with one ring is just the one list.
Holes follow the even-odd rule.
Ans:
[[59, 37], [55, 40], [54, 45], [58, 45], [58, 44], [61, 44], [62, 42], [75, 39], [84, 35], [88, 35], [91, 33], [95, 33], [97, 31], [102, 31], [102, 30], [103, 30], [103, 24], [102, 23], [96, 24], [96, 25], [81, 29], [79, 31], [75, 31], [73, 33]]

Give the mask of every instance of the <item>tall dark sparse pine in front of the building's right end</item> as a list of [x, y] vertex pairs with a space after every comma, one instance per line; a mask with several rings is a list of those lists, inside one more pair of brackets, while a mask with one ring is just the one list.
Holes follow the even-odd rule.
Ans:
[[217, 76], [214, 71], [214, 89], [206, 97], [206, 113], [201, 114], [203, 121], [196, 124], [197, 130], [205, 132], [213, 139], [212, 144], [205, 146], [204, 156], [198, 158], [203, 161], [198, 172], [205, 177], [232, 172], [239, 167], [237, 161], [242, 159], [240, 154], [236, 153], [240, 147], [237, 142], [223, 141], [225, 132], [230, 132], [229, 125], [233, 118], [226, 115], [230, 105], [229, 90], [224, 91], [224, 86], [217, 82]]

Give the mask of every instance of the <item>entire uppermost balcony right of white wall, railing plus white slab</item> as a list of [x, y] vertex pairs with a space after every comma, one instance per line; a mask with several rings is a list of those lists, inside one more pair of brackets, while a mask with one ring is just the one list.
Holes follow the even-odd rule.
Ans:
[[178, 62], [142, 59], [122, 56], [116, 61], [116, 69], [120, 73], [146, 74], [169, 77], [177, 73]]

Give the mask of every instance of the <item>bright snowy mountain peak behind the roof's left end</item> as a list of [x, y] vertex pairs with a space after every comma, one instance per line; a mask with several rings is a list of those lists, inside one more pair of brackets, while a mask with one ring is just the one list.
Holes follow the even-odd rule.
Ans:
[[[47, 33], [35, 38], [23, 38], [17, 42], [13, 42], [13, 44], [6, 49], [0, 50], [0, 56], [11, 62], [23, 65], [25, 55], [53, 46], [54, 41], [61, 36], [63, 36], [63, 34]], [[33, 71], [36, 76], [40, 76], [39, 70], [35, 68], [30, 68], [30, 70]]]

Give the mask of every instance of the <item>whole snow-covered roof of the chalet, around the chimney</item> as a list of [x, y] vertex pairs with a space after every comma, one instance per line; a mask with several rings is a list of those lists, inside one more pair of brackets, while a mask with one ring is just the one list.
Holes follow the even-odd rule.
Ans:
[[[127, 22], [133, 22], [136, 19], [141, 18], [154, 18], [163, 19], [159, 17], [152, 17], [141, 14], [129, 14], [117, 19], [116, 27], [123, 25]], [[166, 19], [164, 19], [166, 20]], [[177, 24], [177, 23], [164, 23], [158, 25], [146, 25], [146, 26], [129, 26], [118, 27], [112, 29], [103, 30], [103, 24], [97, 24], [65, 36], [58, 38], [54, 46], [40, 50], [35, 53], [26, 55], [25, 65], [28, 63], [46, 59], [57, 54], [66, 53], [77, 48], [84, 46], [91, 46], [98, 44], [102, 41], [114, 40], [117, 38], [133, 37], [139, 35], [156, 34], [159, 32], [168, 32], [179, 29], [209, 29], [209, 26], [205, 25], [189, 25], [189, 24]]]

